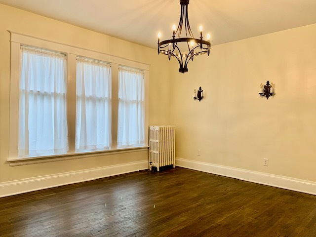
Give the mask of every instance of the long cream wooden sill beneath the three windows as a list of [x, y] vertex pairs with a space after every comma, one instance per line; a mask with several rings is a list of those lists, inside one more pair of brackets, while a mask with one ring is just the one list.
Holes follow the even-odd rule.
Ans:
[[105, 150], [105, 151], [103, 150], [103, 151], [94, 151], [94, 152], [61, 154], [61, 155], [42, 156], [42, 157], [8, 158], [7, 161], [10, 163], [10, 166], [19, 166], [19, 165], [27, 165], [27, 164], [39, 164], [39, 163], [46, 163], [46, 162], [53, 162], [53, 161], [69, 160], [69, 159], [116, 155], [116, 154], [122, 154], [122, 153], [130, 153], [130, 152], [142, 152], [142, 151], [148, 151], [148, 148], [149, 146], [141, 146], [141, 147], [110, 149], [110, 150]]

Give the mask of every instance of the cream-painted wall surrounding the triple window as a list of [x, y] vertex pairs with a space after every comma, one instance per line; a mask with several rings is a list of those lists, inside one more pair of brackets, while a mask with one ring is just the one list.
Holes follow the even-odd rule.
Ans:
[[10, 88], [10, 34], [7, 30], [150, 64], [149, 124], [170, 121], [170, 89], [165, 86], [169, 83], [169, 64], [156, 50], [0, 4], [0, 183], [148, 159], [148, 152], [133, 152], [10, 167], [6, 161]]

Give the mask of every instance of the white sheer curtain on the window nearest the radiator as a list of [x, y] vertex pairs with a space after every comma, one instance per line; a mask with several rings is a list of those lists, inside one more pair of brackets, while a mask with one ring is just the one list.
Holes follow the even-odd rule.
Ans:
[[118, 147], [145, 144], [144, 73], [118, 69]]

